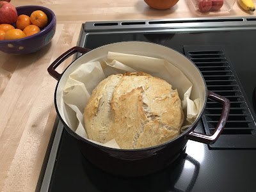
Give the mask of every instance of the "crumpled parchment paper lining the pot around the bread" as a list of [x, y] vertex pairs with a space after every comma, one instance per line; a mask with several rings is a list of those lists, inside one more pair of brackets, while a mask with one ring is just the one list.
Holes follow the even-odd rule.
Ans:
[[[79, 136], [88, 139], [84, 129], [83, 113], [95, 86], [111, 74], [124, 74], [125, 72], [145, 72], [172, 84], [172, 88], [177, 89], [179, 92], [182, 109], [186, 118], [181, 132], [193, 124], [198, 115], [200, 99], [189, 99], [193, 84], [179, 68], [172, 65], [169, 61], [159, 58], [108, 52], [107, 61], [95, 61], [80, 65], [70, 74], [65, 84], [63, 100], [69, 107], [65, 111], [65, 114], [67, 114], [65, 116], [67, 118], [66, 122]], [[96, 141], [92, 142], [98, 143]], [[105, 144], [98, 144], [119, 148], [115, 140]]]

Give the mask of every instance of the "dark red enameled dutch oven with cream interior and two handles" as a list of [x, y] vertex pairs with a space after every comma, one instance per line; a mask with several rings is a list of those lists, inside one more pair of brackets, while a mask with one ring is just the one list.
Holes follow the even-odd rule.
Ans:
[[[85, 140], [76, 134], [76, 132], [72, 131], [65, 121], [63, 105], [61, 105], [63, 104], [63, 88], [67, 82], [68, 76], [83, 63], [106, 60], [109, 51], [162, 58], [170, 61], [170, 63], [182, 70], [191, 83], [193, 83], [191, 99], [200, 98], [200, 109], [195, 122], [185, 132], [171, 141], [155, 147], [133, 150], [103, 147]], [[56, 72], [56, 67], [76, 52], [84, 54], [73, 61], [62, 74]], [[60, 120], [65, 129], [74, 136], [74, 138], [76, 138], [81, 153], [86, 157], [86, 159], [102, 170], [116, 175], [135, 177], [162, 170], [177, 159], [180, 153], [184, 151], [188, 140], [206, 144], [214, 143], [220, 136], [221, 131], [223, 131], [225, 123], [227, 122], [230, 109], [229, 100], [207, 90], [204, 77], [195, 64], [186, 58], [186, 56], [170, 49], [169, 47], [164, 47], [163, 45], [148, 42], [118, 42], [115, 44], [104, 45], [93, 50], [85, 49], [83, 47], [73, 47], [57, 58], [49, 66], [48, 72], [52, 77], [58, 80], [54, 95], [54, 102], [58, 116], [60, 116]], [[223, 104], [220, 120], [212, 135], [206, 135], [194, 131], [196, 124], [198, 124], [198, 121], [204, 112], [207, 98]]]

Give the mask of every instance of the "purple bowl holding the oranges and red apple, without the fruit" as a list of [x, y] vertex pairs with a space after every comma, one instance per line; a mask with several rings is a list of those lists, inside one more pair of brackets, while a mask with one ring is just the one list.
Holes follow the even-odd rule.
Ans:
[[[1, 40], [0, 51], [10, 54], [29, 54], [38, 51], [51, 42], [56, 30], [56, 17], [54, 12], [44, 6], [19, 6], [16, 8], [18, 16], [28, 15], [36, 10], [42, 10], [48, 17], [48, 24], [35, 35], [27, 36], [17, 40]], [[15, 24], [12, 24], [15, 27]]]

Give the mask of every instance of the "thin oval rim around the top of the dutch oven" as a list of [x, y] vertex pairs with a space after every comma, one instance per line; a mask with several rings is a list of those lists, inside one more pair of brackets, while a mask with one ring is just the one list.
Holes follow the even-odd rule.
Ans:
[[[125, 42], [125, 41], [124, 41]], [[126, 42], [143, 42], [143, 41], [126, 41]], [[116, 42], [116, 43], [111, 43], [111, 44], [118, 44], [120, 42]], [[156, 44], [156, 43], [152, 43], [152, 42], [143, 42], [143, 43], [148, 43], [148, 44]], [[111, 45], [111, 44], [106, 44], [106, 45], [102, 45], [100, 47], [104, 47], [104, 46], [107, 46], [107, 45]], [[163, 47], [166, 47], [168, 49], [172, 49], [171, 47], [168, 47], [166, 45], [161, 45], [161, 44], [156, 44], [156, 45], [160, 45], [160, 46], [163, 46]], [[99, 47], [97, 47], [99, 48]], [[97, 49], [95, 48], [95, 49]], [[92, 50], [95, 50], [95, 49], [92, 49]], [[90, 51], [92, 51], [90, 50]], [[119, 151], [119, 152], [141, 152], [141, 151], [145, 151], [145, 150], [154, 150], [154, 148], [159, 148], [159, 147], [164, 147], [165, 145], [169, 145], [169, 143], [172, 143], [172, 142], [175, 142], [177, 140], [179, 140], [181, 137], [183, 136], [186, 136], [186, 134], [188, 134], [188, 132], [191, 131], [191, 129], [193, 129], [193, 127], [196, 126], [196, 124], [198, 124], [198, 121], [200, 120], [201, 116], [203, 115], [204, 113], [204, 109], [205, 109], [205, 105], [206, 105], [206, 102], [207, 102], [207, 86], [206, 86], [206, 83], [205, 83], [205, 79], [204, 79], [204, 76], [202, 74], [202, 72], [199, 70], [199, 68], [195, 65], [195, 63], [193, 63], [193, 61], [191, 61], [187, 56], [185, 56], [184, 54], [182, 54], [181, 52], [179, 51], [176, 51], [175, 49], [172, 49], [173, 51], [181, 54], [182, 56], [184, 56], [186, 59], [188, 59], [191, 64], [194, 65], [194, 67], [196, 67], [196, 69], [198, 70], [198, 72], [200, 73], [200, 76], [202, 77], [202, 80], [204, 81], [204, 87], [205, 87], [205, 102], [204, 102], [204, 106], [202, 108], [202, 111], [200, 112], [200, 114], [197, 116], [195, 122], [193, 122], [193, 124], [188, 127], [188, 129], [184, 132], [182, 132], [181, 134], [179, 134], [179, 136], [177, 136], [176, 138], [170, 140], [170, 141], [167, 141], [165, 143], [162, 143], [160, 145], [156, 145], [156, 146], [153, 146], [153, 147], [147, 147], [147, 148], [136, 148], [136, 149], [122, 149], [122, 148], [111, 148], [111, 147], [106, 147], [106, 146], [102, 146], [102, 145], [99, 145], [97, 143], [93, 143], [92, 141], [89, 141], [89, 140], [86, 140], [84, 139], [83, 137], [79, 136], [79, 134], [77, 134], [76, 132], [74, 132], [66, 123], [65, 121], [63, 120], [63, 118], [61, 117], [60, 113], [59, 113], [59, 110], [58, 110], [58, 105], [57, 105], [57, 90], [58, 90], [58, 85], [61, 81], [61, 77], [63, 76], [63, 74], [65, 74], [66, 70], [76, 61], [78, 60], [79, 58], [81, 58], [82, 56], [85, 56], [88, 52], [82, 54], [81, 56], [79, 56], [78, 58], [76, 58], [76, 60], [72, 61], [68, 66], [67, 68], [65, 68], [65, 70], [61, 73], [61, 76], [60, 78], [58, 79], [58, 83], [56, 84], [56, 88], [55, 88], [55, 92], [54, 92], [54, 105], [55, 105], [55, 109], [56, 109], [56, 113], [58, 114], [63, 126], [65, 127], [66, 131], [68, 133], [70, 133], [72, 136], [74, 136], [77, 140], [80, 140], [80, 141], [84, 141], [86, 142], [87, 144], [90, 144], [90, 145], [93, 145], [94, 147], [99, 147], [99, 148], [102, 148], [104, 150], [116, 150], [116, 151]], [[187, 139], [186, 139], [187, 140]]]

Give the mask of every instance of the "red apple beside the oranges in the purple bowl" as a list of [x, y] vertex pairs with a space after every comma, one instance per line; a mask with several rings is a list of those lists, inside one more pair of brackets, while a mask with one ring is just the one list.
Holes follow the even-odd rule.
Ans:
[[6, 2], [0, 1], [0, 24], [13, 24], [18, 17], [15, 6]]

